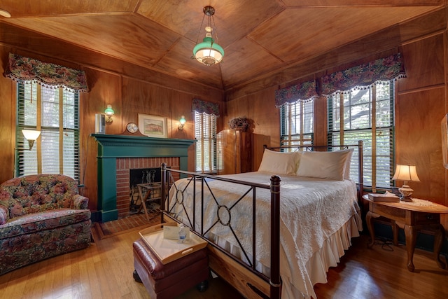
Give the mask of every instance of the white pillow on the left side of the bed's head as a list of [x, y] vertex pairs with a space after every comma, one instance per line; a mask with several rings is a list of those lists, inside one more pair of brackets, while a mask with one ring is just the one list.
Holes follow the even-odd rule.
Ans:
[[298, 152], [282, 153], [265, 148], [258, 171], [272, 174], [295, 174], [299, 159], [300, 153]]

